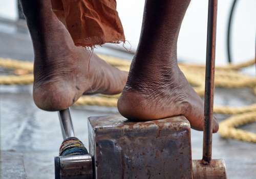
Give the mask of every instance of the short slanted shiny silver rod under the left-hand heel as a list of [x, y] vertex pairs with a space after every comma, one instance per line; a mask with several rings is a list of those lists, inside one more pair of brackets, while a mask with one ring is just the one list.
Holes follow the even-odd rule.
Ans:
[[59, 111], [58, 115], [63, 139], [65, 140], [70, 137], [74, 137], [74, 128], [69, 108], [66, 110]]

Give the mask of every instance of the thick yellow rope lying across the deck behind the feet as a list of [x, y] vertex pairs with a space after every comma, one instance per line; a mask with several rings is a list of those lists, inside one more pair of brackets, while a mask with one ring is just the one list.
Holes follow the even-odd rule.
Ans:
[[[112, 66], [121, 70], [129, 71], [131, 61], [115, 57], [98, 55]], [[250, 88], [256, 95], [256, 78], [239, 72], [241, 68], [251, 66], [255, 59], [240, 64], [229, 64], [216, 67], [215, 86], [221, 88]], [[19, 61], [7, 58], [0, 58], [2, 68], [13, 70], [12, 75], [0, 76], [0, 85], [29, 85], [33, 83], [33, 63], [28, 61]], [[205, 66], [189, 65], [179, 63], [188, 82], [194, 87], [200, 95], [204, 95]], [[76, 106], [105, 106], [116, 107], [118, 95], [97, 95], [81, 96], [74, 105]], [[233, 138], [237, 140], [256, 142], [256, 134], [235, 129], [239, 125], [256, 121], [256, 104], [244, 107], [216, 106], [214, 112], [219, 114], [232, 115], [220, 123], [219, 134], [224, 138]]]

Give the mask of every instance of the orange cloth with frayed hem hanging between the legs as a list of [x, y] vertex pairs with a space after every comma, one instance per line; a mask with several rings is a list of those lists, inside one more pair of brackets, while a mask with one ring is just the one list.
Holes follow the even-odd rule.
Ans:
[[51, 0], [75, 45], [90, 46], [125, 41], [116, 0]]

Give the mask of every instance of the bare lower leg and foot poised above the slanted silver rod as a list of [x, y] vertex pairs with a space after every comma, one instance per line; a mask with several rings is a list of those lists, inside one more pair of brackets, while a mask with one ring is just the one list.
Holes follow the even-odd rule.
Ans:
[[77, 47], [50, 0], [21, 1], [34, 46], [33, 98], [47, 111], [67, 109], [88, 93], [120, 93], [127, 72]]

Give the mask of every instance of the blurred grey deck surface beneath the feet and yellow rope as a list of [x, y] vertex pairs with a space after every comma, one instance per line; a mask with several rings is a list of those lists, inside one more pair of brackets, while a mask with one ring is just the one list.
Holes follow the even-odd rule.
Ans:
[[[2, 28], [3, 24], [0, 24]], [[0, 28], [0, 29], [1, 29]], [[9, 29], [8, 29], [9, 28]], [[28, 34], [16, 33], [6, 26], [0, 31], [0, 57], [33, 59], [32, 44]], [[110, 49], [98, 49], [101, 53], [132, 58]], [[244, 106], [256, 102], [249, 89], [216, 89], [215, 104]], [[73, 107], [71, 108], [77, 137], [88, 146], [87, 118], [116, 114], [116, 108]], [[33, 103], [32, 86], [0, 86], [1, 117], [1, 178], [54, 178], [54, 160], [61, 144], [61, 131], [56, 112], [39, 110]], [[227, 116], [218, 115], [219, 121]], [[256, 124], [242, 127], [256, 132]], [[193, 159], [202, 155], [202, 133], [192, 130]], [[226, 162], [228, 178], [255, 178], [256, 144], [222, 139], [218, 134], [213, 139], [213, 158]], [[3, 171], [3, 172], [2, 172]], [[15, 174], [16, 173], [16, 174]]]

